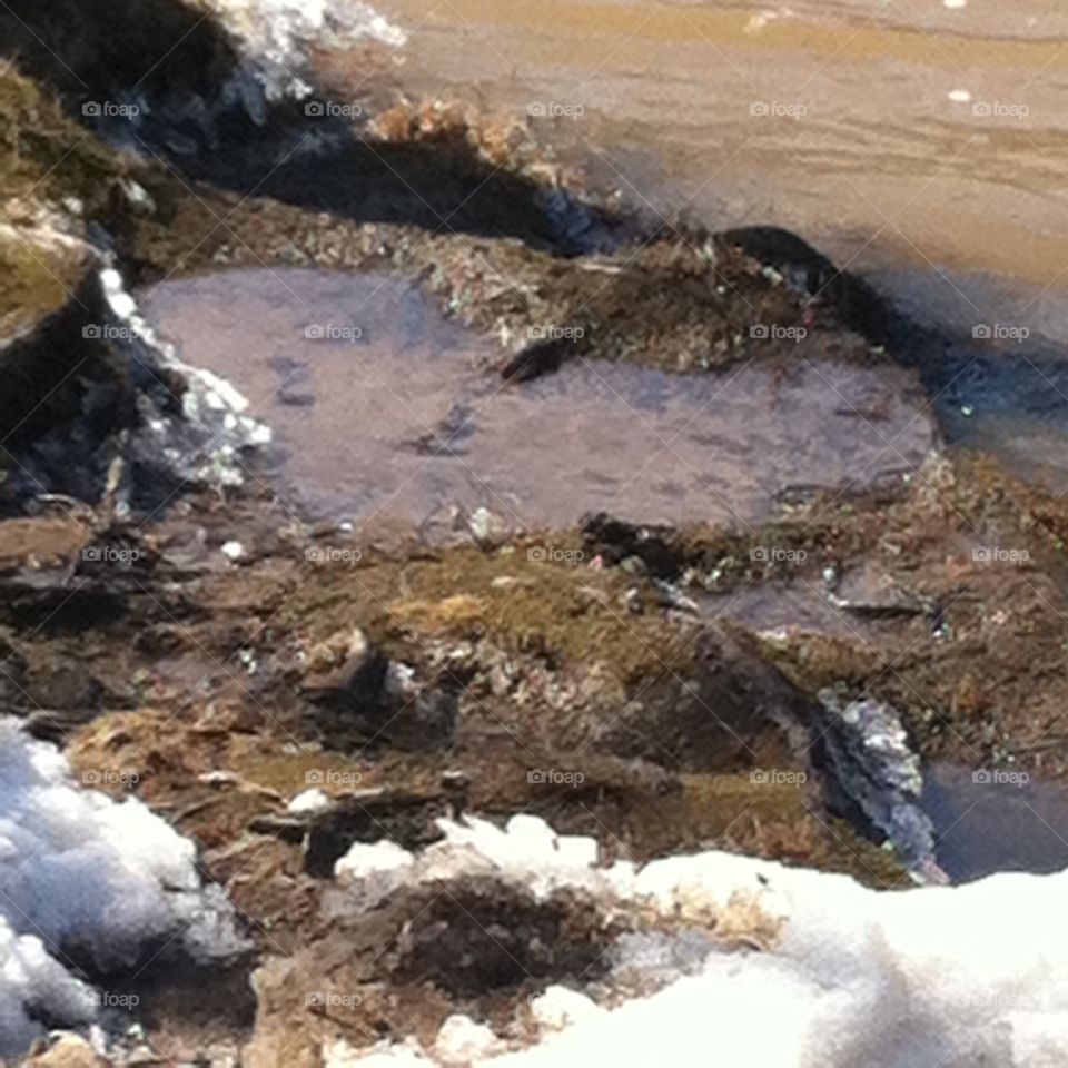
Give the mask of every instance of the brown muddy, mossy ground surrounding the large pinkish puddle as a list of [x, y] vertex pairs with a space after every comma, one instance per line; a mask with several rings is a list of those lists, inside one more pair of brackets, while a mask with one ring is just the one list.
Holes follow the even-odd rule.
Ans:
[[[601, 516], [368, 540], [298, 515], [254, 474], [117, 508], [106, 474], [138, 386], [116, 349], [80, 336], [102, 307], [97, 227], [148, 287], [229, 266], [396, 271], [493, 343], [487, 380], [580, 359], [703, 374], [901, 354], [881, 344], [891, 312], [789, 235], [651, 228], [603, 190], [562, 199], [567, 176], [497, 117], [398, 102], [383, 78], [374, 121], [344, 131], [312, 187], [320, 160], [265, 164], [299, 116], [244, 155], [118, 154], [26, 48], [21, 72], [0, 70], [0, 359], [14, 369], [0, 455], [17, 474], [23, 451], [69, 432], [99, 451], [101, 492], [56, 498], [63, 486], [12, 479], [0, 693], [87, 782], [134, 783], [191, 837], [255, 932], [255, 995], [249, 966], [146, 996], [161, 1060], [250, 1042], [247, 1064], [317, 1065], [338, 1037], [429, 1036], [451, 1011], [494, 1019], [548, 979], [589, 979], [611, 932], [582, 909], [464, 886], [369, 919], [332, 910], [350, 844], [415, 848], [444, 814], [532, 812], [639, 862], [715, 847], [908, 884], [878, 835], [829, 804], [813, 715], [825, 688], [891, 703], [926, 759], [1064, 777], [1068, 511], [981, 456], [941, 448], [886, 485], [792, 487], [755, 526]], [[189, 91], [164, 73], [156, 91]], [[63, 239], [34, 251], [49, 227]], [[544, 327], [571, 336], [545, 343]], [[180, 399], [182, 383], [167, 386]], [[313, 785], [334, 804], [290, 813]], [[478, 941], [493, 924], [520, 932], [505, 948], [518, 971]], [[442, 931], [436, 956], [415, 952]], [[534, 942], [545, 959], [523, 956]], [[457, 963], [472, 956], [490, 962]], [[358, 989], [358, 1005], [308, 1003], [334, 989]]]

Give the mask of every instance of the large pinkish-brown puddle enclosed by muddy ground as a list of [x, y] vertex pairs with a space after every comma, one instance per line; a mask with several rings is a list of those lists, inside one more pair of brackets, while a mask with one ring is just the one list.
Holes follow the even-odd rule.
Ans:
[[580, 360], [505, 387], [485, 343], [383, 276], [228, 271], [167, 283], [145, 310], [273, 426], [294, 506], [376, 528], [437, 536], [478, 507], [526, 530], [599, 510], [744, 524], [793, 487], [898, 477], [932, 442], [893, 367], [686, 378]]

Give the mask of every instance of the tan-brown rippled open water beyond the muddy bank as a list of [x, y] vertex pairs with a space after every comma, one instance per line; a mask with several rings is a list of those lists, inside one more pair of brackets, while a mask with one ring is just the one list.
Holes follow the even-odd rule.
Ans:
[[561, 106], [536, 127], [631, 205], [785, 226], [941, 318], [1066, 334], [1064, 4], [378, 7], [409, 31], [406, 87]]

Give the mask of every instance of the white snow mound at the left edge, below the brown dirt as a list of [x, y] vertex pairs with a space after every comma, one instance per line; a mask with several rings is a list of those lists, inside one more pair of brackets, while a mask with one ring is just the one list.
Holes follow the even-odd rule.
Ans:
[[140, 801], [82, 789], [55, 746], [0, 719], [0, 1056], [40, 1036], [39, 1019], [96, 1019], [100, 998], [66, 953], [106, 972], [167, 939], [198, 957], [243, 948], [195, 859]]

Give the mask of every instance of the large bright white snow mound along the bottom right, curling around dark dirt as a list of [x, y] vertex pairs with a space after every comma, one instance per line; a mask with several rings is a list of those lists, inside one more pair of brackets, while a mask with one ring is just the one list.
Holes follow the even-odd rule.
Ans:
[[[374, 900], [368, 888], [490, 874], [541, 897], [575, 889], [615, 914], [621, 903], [641, 903], [645, 914], [681, 918], [688, 930], [620, 939], [615, 973], [647, 969], [657, 980], [652, 992], [611, 1008], [596, 1005], [593, 990], [553, 986], [536, 996], [533, 1045], [492, 1042], [477, 1021], [452, 1018], [429, 1048], [412, 1039], [369, 1050], [334, 1046], [325, 1051], [333, 1068], [1068, 1064], [1068, 872], [876, 891], [847, 876], [718, 851], [641, 870], [597, 868], [585, 862], [596, 854], [591, 841], [557, 838], [531, 817], [504, 830], [482, 820], [441, 825], [442, 842], [403, 862], [395, 847], [360, 847], [338, 861], [342, 882]], [[768, 923], [774, 937], [724, 942], [732, 923], [739, 932]], [[678, 946], [664, 945], [673, 938]]]

